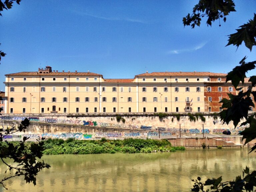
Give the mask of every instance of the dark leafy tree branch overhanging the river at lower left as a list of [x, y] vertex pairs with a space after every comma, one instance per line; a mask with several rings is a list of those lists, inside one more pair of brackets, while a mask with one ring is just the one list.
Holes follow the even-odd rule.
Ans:
[[[24, 119], [19, 127], [12, 127], [5, 129], [5, 133], [2, 131], [4, 129], [0, 129], [0, 158], [4, 164], [7, 165], [10, 171], [10, 176], [5, 176], [0, 184], [3, 185], [4, 181], [17, 176], [24, 176], [24, 180], [26, 183], [32, 182], [36, 185], [36, 175], [43, 168], [49, 168], [50, 165], [44, 163], [44, 161], [37, 161], [37, 158], [41, 158], [43, 156], [43, 142], [37, 139], [37, 142], [25, 142], [29, 137], [23, 137], [23, 140], [20, 142], [8, 142], [3, 138], [6, 135], [12, 135], [16, 132], [25, 132], [27, 127], [29, 126], [29, 120]], [[9, 165], [5, 161], [6, 159], [12, 159], [16, 165]], [[15, 174], [11, 173], [11, 170], [15, 170]], [[7, 188], [6, 188], [7, 189]]]

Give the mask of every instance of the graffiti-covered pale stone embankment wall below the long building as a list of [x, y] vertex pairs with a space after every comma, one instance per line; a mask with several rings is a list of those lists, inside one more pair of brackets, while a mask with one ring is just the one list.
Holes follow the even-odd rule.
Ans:
[[[152, 114], [151, 114], [152, 115]], [[205, 116], [206, 121], [202, 122], [200, 118], [190, 121], [186, 115], [181, 115], [180, 120], [175, 116], [168, 116], [159, 119], [158, 116], [122, 116], [125, 121], [117, 122], [116, 116], [77, 116], [67, 114], [30, 114], [25, 115], [2, 115], [0, 116], [1, 126], [18, 126], [20, 121], [28, 118], [30, 120], [29, 128], [24, 133], [30, 138], [70, 138], [89, 139], [89, 138], [121, 138], [121, 137], [149, 137], [149, 136], [169, 136], [182, 134], [204, 133], [222, 133], [224, 130], [230, 130], [237, 133], [243, 127], [234, 129], [233, 124], [223, 124], [220, 119], [214, 119], [213, 116]], [[223, 125], [222, 125], [223, 124]], [[239, 125], [238, 125], [239, 126]], [[11, 136], [10, 136], [11, 137]], [[14, 135], [13, 138], [22, 137]]]

